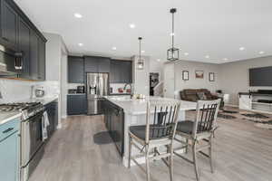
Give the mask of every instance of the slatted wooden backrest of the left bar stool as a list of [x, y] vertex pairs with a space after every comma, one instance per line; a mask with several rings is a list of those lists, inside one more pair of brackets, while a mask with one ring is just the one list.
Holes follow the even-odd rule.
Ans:
[[174, 138], [180, 100], [150, 100], [147, 103], [146, 143], [151, 139]]

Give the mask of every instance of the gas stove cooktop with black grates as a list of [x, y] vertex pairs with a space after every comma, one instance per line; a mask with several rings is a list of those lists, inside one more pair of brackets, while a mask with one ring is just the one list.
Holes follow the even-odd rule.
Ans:
[[0, 104], [0, 112], [21, 112], [22, 119], [29, 119], [38, 112], [44, 110], [41, 102], [15, 102]]

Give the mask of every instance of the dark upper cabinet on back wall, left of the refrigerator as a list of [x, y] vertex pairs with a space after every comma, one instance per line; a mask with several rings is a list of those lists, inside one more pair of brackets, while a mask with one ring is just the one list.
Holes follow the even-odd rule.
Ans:
[[68, 57], [68, 82], [84, 83], [84, 61], [83, 57]]

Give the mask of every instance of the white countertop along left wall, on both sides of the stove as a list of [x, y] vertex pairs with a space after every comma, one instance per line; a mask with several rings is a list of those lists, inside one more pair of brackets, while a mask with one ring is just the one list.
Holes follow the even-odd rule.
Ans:
[[[42, 104], [46, 105], [53, 100], [57, 100], [59, 97], [58, 95], [51, 96], [51, 97], [44, 97], [44, 98], [34, 98], [34, 99], [24, 99], [24, 100], [18, 100], [18, 102], [34, 102], [38, 101], [41, 102]], [[22, 116], [21, 112], [0, 112], [0, 125], [4, 124], [7, 121], [19, 118]]]

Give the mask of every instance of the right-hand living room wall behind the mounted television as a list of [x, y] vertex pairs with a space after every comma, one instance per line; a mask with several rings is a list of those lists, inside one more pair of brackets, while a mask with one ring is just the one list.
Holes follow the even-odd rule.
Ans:
[[272, 56], [229, 62], [219, 65], [219, 87], [230, 94], [229, 104], [238, 105], [238, 92], [248, 90], [272, 90], [272, 87], [249, 87], [248, 69], [272, 66]]

